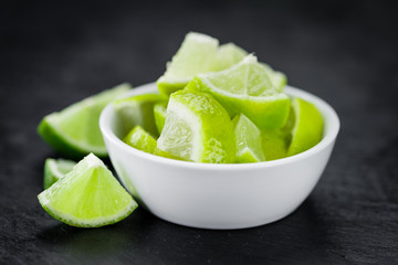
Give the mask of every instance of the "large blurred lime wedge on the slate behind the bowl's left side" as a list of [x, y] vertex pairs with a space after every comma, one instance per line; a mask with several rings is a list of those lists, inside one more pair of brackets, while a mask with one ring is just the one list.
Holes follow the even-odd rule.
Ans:
[[40, 123], [38, 134], [52, 148], [67, 157], [80, 159], [90, 152], [106, 157], [98, 125], [101, 112], [129, 88], [129, 84], [122, 84], [75, 103], [60, 113], [50, 114]]

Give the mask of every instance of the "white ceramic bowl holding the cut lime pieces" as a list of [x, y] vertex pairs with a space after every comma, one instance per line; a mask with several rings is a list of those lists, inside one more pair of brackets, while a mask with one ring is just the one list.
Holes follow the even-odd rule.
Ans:
[[[125, 97], [156, 91], [151, 83]], [[286, 216], [308, 197], [339, 129], [327, 103], [297, 88], [285, 92], [315, 104], [325, 120], [324, 137], [310, 150], [274, 161], [195, 163], [143, 152], [121, 140], [122, 126], [112, 104], [103, 110], [100, 127], [124, 186], [156, 216], [200, 229], [252, 227]]]

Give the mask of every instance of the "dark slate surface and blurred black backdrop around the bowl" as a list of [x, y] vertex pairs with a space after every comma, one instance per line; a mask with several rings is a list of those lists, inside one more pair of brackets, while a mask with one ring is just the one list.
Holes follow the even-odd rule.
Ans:
[[[0, 7], [1, 264], [397, 264], [397, 8], [385, 2], [9, 1]], [[122, 82], [155, 81], [188, 31], [232, 41], [335, 107], [342, 130], [290, 216], [239, 231], [137, 210], [81, 230], [39, 205], [40, 119]]]

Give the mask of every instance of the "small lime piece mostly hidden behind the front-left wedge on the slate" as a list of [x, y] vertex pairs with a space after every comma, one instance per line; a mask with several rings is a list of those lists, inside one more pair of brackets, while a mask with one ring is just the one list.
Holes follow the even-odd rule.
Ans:
[[44, 163], [44, 189], [49, 189], [53, 183], [69, 173], [76, 165], [75, 161], [66, 159], [45, 159]]

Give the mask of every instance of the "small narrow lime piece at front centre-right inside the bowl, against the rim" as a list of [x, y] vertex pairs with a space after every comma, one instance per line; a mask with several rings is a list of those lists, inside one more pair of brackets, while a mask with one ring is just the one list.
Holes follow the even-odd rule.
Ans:
[[265, 161], [261, 145], [261, 131], [243, 114], [237, 115], [232, 123], [237, 137], [237, 162], [260, 162]]

